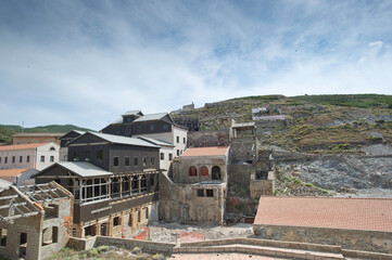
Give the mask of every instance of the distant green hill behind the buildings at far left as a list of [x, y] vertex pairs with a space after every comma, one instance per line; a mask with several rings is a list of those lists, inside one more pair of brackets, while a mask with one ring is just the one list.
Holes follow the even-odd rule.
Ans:
[[[87, 128], [80, 128], [74, 125], [49, 125], [45, 127], [35, 127], [35, 128], [25, 128], [25, 133], [66, 133], [72, 130], [79, 131], [91, 131]], [[0, 143], [10, 144], [12, 135], [15, 133], [21, 133], [22, 127], [20, 126], [7, 126], [0, 125]]]

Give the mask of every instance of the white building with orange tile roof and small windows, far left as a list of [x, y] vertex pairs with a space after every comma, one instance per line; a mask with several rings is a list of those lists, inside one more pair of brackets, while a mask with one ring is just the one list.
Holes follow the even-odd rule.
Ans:
[[59, 151], [53, 142], [0, 146], [0, 169], [42, 170], [59, 161]]

